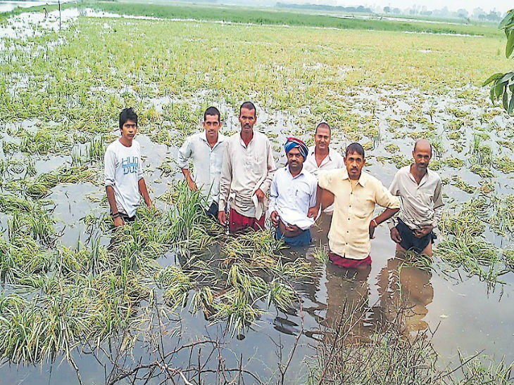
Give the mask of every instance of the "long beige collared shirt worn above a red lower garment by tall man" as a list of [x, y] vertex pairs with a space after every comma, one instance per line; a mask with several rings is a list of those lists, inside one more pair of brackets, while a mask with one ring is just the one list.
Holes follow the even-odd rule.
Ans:
[[261, 218], [265, 202], [256, 203], [252, 197], [258, 189], [268, 193], [276, 169], [270, 141], [263, 133], [253, 130], [248, 146], [241, 133], [234, 133], [226, 141], [221, 168], [220, 211], [230, 200], [230, 206], [239, 214]]

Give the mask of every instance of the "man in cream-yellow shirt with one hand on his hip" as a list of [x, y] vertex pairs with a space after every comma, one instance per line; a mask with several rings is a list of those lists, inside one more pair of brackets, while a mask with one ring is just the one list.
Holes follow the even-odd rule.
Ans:
[[[330, 261], [344, 268], [358, 268], [371, 264], [370, 240], [375, 228], [399, 210], [400, 202], [377, 178], [362, 171], [365, 154], [360, 144], [351, 143], [346, 148], [344, 164], [344, 169], [320, 172], [317, 204], [309, 210], [309, 216], [318, 214], [325, 191], [334, 194], [328, 233]], [[372, 218], [375, 204], [386, 209]]]

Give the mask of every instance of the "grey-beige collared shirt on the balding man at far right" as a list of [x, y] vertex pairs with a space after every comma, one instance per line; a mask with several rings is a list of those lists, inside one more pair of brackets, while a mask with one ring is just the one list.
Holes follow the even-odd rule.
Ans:
[[[412, 230], [423, 225], [437, 227], [443, 211], [442, 183], [437, 172], [427, 169], [420, 184], [410, 174], [410, 166], [396, 172], [389, 187], [392, 195], [400, 197], [399, 218]], [[396, 226], [394, 218], [389, 219], [389, 228]]]

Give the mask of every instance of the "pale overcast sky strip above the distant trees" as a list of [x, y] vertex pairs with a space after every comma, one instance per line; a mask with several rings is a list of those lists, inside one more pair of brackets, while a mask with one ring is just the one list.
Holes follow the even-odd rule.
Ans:
[[[300, 1], [299, 1], [300, 2]], [[306, 1], [315, 3], [317, 1]], [[337, 5], [340, 6], [355, 6], [355, 5], [368, 5], [368, 6], [391, 6], [397, 8], [410, 8], [413, 4], [419, 6], [426, 6], [428, 9], [437, 9], [447, 6], [449, 10], [456, 11], [459, 8], [465, 8], [472, 11], [473, 8], [480, 7], [485, 11], [496, 8], [496, 11], [506, 12], [514, 8], [513, 0], [337, 0]]]

